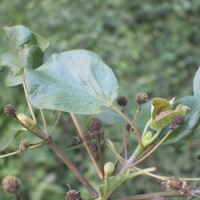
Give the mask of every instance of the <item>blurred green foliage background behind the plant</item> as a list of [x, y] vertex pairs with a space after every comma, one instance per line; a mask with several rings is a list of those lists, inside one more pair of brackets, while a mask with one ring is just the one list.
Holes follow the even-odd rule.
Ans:
[[[129, 100], [133, 113], [134, 97], [139, 91], [153, 97], [171, 99], [191, 95], [192, 80], [200, 63], [199, 0], [1, 0], [0, 27], [22, 24], [46, 37], [53, 52], [89, 49], [110, 66], [119, 82], [119, 94]], [[0, 31], [0, 53], [7, 50]], [[15, 104], [17, 111], [29, 115], [22, 87], [6, 87], [7, 71], [0, 73], [0, 139], [12, 136], [17, 122], [4, 116], [3, 107]], [[40, 119], [39, 113], [36, 113]], [[56, 112], [45, 111], [51, 129]], [[86, 131], [88, 116], [80, 121]], [[122, 126], [105, 125], [105, 138], [122, 138]], [[121, 130], [121, 131], [120, 131]], [[76, 144], [77, 132], [67, 114], [63, 114], [54, 138], [92, 184], [96, 175], [83, 149], [67, 151]], [[9, 147], [14, 151], [21, 139], [38, 142], [28, 133], [19, 133]], [[134, 141], [133, 141], [134, 142]], [[120, 143], [116, 142], [120, 147]], [[130, 145], [130, 152], [134, 145]], [[199, 176], [199, 161], [194, 154], [199, 141], [163, 146], [142, 166], [156, 166], [157, 173], [186, 177]], [[113, 155], [104, 149], [105, 160]], [[87, 162], [86, 162], [87, 161]], [[16, 175], [22, 181], [22, 199], [62, 200], [64, 192], [76, 188], [85, 193], [69, 170], [48, 147], [21, 156], [0, 159], [0, 180]], [[144, 184], [145, 182], [145, 184]], [[139, 177], [121, 187], [113, 197], [160, 191], [160, 182]], [[10, 199], [0, 189], [0, 200]]]

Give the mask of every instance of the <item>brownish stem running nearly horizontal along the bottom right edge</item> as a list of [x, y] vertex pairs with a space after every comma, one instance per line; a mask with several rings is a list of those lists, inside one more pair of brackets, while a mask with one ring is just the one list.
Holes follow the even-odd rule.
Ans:
[[118, 199], [113, 199], [113, 200], [144, 200], [144, 199], [153, 199], [156, 196], [181, 197], [183, 195], [181, 195], [180, 192], [169, 191], [169, 192], [155, 192], [155, 193], [149, 193], [149, 194], [140, 194], [140, 195], [125, 197], [125, 198], [118, 198]]

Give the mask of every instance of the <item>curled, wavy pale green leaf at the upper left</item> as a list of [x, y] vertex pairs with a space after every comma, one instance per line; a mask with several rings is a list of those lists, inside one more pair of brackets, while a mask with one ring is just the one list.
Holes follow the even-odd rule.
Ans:
[[[36, 33], [32, 33], [22, 25], [4, 27], [4, 31], [8, 38], [10, 50], [1, 55], [0, 66], [9, 69], [6, 81], [7, 85], [15, 86], [23, 82], [24, 73], [22, 72], [24, 71], [23, 68], [27, 66], [26, 61], [30, 47], [36, 45], [42, 51], [45, 51], [49, 43], [45, 38]], [[40, 62], [40, 57], [35, 57], [34, 59], [35, 62]]]

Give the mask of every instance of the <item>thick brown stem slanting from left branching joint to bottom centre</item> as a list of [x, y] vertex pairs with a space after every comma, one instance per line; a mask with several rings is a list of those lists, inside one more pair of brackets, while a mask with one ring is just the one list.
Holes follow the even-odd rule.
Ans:
[[78, 171], [78, 169], [75, 167], [75, 165], [67, 158], [66, 155], [64, 155], [60, 149], [57, 147], [57, 145], [54, 143], [52, 138], [49, 139], [49, 147], [50, 149], [60, 158], [60, 160], [65, 163], [65, 165], [72, 171], [72, 173], [76, 176], [76, 178], [80, 181], [80, 183], [85, 186], [85, 188], [90, 192], [90, 194], [94, 197], [98, 196], [98, 193], [95, 191], [95, 189], [88, 183], [88, 181], [82, 176], [82, 174]]

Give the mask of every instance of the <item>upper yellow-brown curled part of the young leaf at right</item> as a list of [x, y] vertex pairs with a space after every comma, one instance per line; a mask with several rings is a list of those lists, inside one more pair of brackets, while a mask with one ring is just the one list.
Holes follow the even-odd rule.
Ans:
[[154, 98], [151, 100], [151, 118], [156, 118], [161, 112], [170, 110], [170, 102], [167, 99]]

